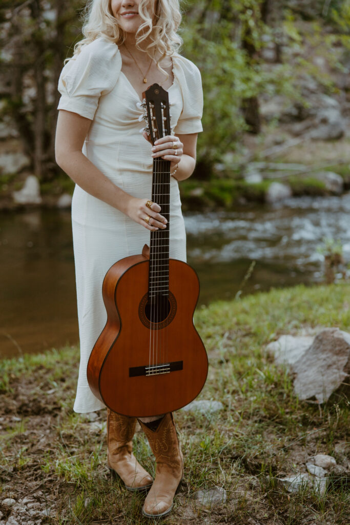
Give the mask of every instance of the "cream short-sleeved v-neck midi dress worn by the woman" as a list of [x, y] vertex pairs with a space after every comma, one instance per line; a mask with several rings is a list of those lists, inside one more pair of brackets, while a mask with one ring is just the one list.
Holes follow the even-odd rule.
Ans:
[[[197, 133], [201, 127], [203, 92], [200, 72], [176, 54], [174, 82], [168, 89], [171, 126], [177, 134]], [[151, 144], [144, 127], [140, 98], [121, 71], [118, 46], [101, 37], [82, 47], [63, 67], [58, 109], [92, 120], [82, 152], [126, 193], [151, 198]], [[171, 177], [170, 256], [186, 260], [186, 235], [178, 184]], [[73, 249], [76, 268], [80, 366], [75, 412], [104, 407], [87, 381], [87, 364], [94, 343], [107, 321], [102, 282], [114, 262], [140, 254], [150, 232], [118, 209], [93, 197], [78, 185], [72, 199]]]

